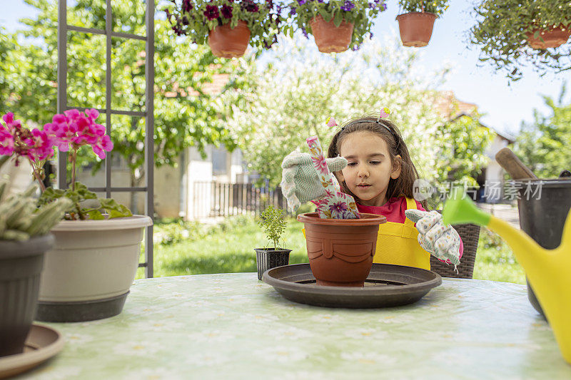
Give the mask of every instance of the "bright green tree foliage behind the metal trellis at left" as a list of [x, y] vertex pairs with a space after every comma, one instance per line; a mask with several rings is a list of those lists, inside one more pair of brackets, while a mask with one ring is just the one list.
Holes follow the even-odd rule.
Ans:
[[[39, 124], [51, 121], [57, 98], [57, 1], [25, 0], [39, 10], [35, 19], [23, 19], [26, 37], [0, 34], [0, 111], [12, 111]], [[68, 6], [68, 24], [105, 29], [105, 0], [77, 0]], [[145, 9], [141, 0], [113, 1], [113, 31], [145, 35]], [[154, 158], [155, 164], [174, 165], [181, 151], [196, 146], [204, 154], [208, 144], [234, 143], [226, 131], [216, 97], [203, 91], [216, 75], [228, 76], [228, 88], [241, 81], [239, 60], [212, 55], [208, 46], [175, 38], [166, 20], [155, 20]], [[106, 108], [106, 37], [71, 31], [68, 34], [68, 105]], [[123, 111], [145, 110], [145, 41], [113, 37], [111, 40], [111, 106]], [[224, 89], [226, 90], [226, 88]], [[98, 119], [106, 124], [105, 115]], [[144, 176], [144, 118], [113, 115], [111, 139], [131, 169], [131, 185]], [[81, 160], [89, 163], [87, 155]], [[91, 162], [93, 164], [93, 162]], [[98, 161], [94, 168], [101, 165]]]

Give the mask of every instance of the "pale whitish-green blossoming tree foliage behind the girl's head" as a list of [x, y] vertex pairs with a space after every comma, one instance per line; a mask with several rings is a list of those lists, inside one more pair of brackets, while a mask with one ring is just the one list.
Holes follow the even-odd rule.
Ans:
[[447, 68], [426, 75], [415, 52], [399, 45], [373, 40], [359, 51], [324, 56], [303, 37], [281, 38], [267, 65], [248, 71], [243, 103], [226, 94], [228, 125], [250, 170], [278, 185], [281, 161], [292, 150], [307, 151], [305, 138], [318, 135], [328, 146], [339, 128], [325, 125], [329, 116], [343, 122], [388, 107], [421, 177], [473, 180], [485, 163], [489, 131], [477, 115], [445, 120], [435, 88]]

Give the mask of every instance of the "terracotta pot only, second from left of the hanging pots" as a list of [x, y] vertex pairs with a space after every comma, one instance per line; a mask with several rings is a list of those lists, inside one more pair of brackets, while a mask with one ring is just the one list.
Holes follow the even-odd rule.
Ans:
[[321, 53], [340, 53], [349, 48], [353, 37], [353, 23], [343, 20], [337, 27], [333, 24], [333, 19], [325, 22], [323, 17], [318, 15], [309, 21], [309, 26]]

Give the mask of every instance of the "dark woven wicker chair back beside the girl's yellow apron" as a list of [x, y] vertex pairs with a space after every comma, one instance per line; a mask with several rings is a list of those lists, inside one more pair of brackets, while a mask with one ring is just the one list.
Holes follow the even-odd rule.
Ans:
[[474, 262], [476, 261], [477, 240], [480, 237], [479, 225], [453, 225], [458, 231], [460, 239], [464, 244], [464, 252], [458, 265], [458, 273], [454, 270], [454, 265], [441, 262], [433, 255], [430, 255], [430, 270], [440, 274], [442, 277], [472, 278], [474, 274]]

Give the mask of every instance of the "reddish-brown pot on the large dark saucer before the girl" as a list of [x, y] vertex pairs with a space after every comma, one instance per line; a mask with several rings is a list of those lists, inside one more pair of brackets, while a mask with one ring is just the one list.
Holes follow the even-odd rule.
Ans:
[[360, 219], [321, 219], [317, 212], [298, 215], [305, 225], [309, 265], [316, 284], [363, 287], [373, 265], [382, 215]]

